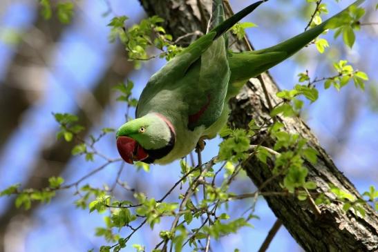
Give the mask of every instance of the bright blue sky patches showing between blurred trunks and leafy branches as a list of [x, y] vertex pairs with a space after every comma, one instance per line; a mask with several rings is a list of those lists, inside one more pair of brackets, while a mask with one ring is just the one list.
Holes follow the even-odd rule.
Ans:
[[[136, 0], [109, 2], [116, 14], [126, 14], [130, 18], [126, 23], [128, 26], [143, 15], [143, 10]], [[330, 13], [334, 13], [351, 1], [328, 2], [330, 3]], [[231, 1], [234, 10], [240, 10], [246, 4], [246, 1]], [[302, 2], [294, 1], [293, 4], [299, 5]], [[372, 6], [372, 3], [368, 4]], [[51, 64], [42, 72], [44, 83], [40, 87], [41, 97], [26, 112], [26, 115], [23, 115], [19, 128], [10, 137], [3, 153], [0, 153], [0, 190], [10, 184], [24, 182], [31, 167], [28, 164], [35, 162], [41, 146], [46, 142], [55, 141], [57, 124], [51, 116], [51, 112], [73, 112], [75, 107], [80, 105], [81, 95], [90, 93], [95, 81], [104, 72], [108, 61], [111, 60], [109, 55], [114, 49], [114, 45], [108, 43], [107, 39], [109, 29], [106, 24], [111, 17], [102, 17], [106, 10], [107, 6], [104, 1], [84, 1], [82, 5], [77, 6], [79, 15], [62, 35], [62, 39], [57, 43], [51, 55], [49, 61]], [[271, 16], [267, 15], [267, 12], [270, 11], [275, 11], [277, 14], [281, 12], [282, 21], [278, 24], [270, 21]], [[270, 1], [266, 3], [266, 6], [247, 17], [245, 21], [253, 21], [258, 24], [258, 28], [247, 30], [255, 48], [274, 45], [302, 32], [307, 23], [303, 19], [299, 19], [296, 12], [298, 10], [285, 4], [285, 1], [276, 3]], [[35, 6], [32, 2], [27, 1], [14, 1], [0, 13], [2, 13], [0, 31], [7, 28], [27, 31], [31, 28], [30, 25], [37, 15]], [[371, 20], [372, 17], [374, 16], [371, 15], [368, 20], [377, 21]], [[341, 58], [352, 61], [355, 68], [367, 72], [371, 80], [369, 85], [377, 85], [378, 72], [375, 70], [375, 66], [377, 66], [378, 48], [374, 46], [377, 41], [377, 29], [363, 27], [357, 33], [357, 42], [352, 50], [343, 46], [341, 39], [332, 39], [332, 32], [325, 37], [332, 45], [336, 45], [335, 48], [339, 49], [339, 52], [335, 52], [336, 55], [342, 55]], [[0, 41], [1, 80], [6, 75], [7, 66], [12, 60], [14, 52], [15, 46]], [[323, 62], [328, 57], [337, 59], [332, 56], [329, 49], [323, 55], [319, 55], [314, 46], [306, 48], [301, 54], [308, 57], [305, 65], [299, 65], [296, 61], [298, 56], [296, 56], [270, 70], [281, 88], [292, 88], [298, 79], [296, 75], [305, 69], [310, 70], [312, 77], [329, 76], [330, 68]], [[129, 76], [129, 79], [135, 82], [135, 97], [138, 97], [149, 76], [162, 64], [164, 64], [162, 59], [153, 60]], [[32, 88], [28, 84], [28, 80], [25, 81], [26, 86], [29, 85], [28, 88]], [[334, 161], [359, 191], [367, 190], [371, 184], [377, 186], [378, 170], [375, 167], [377, 165], [375, 152], [378, 148], [378, 138], [375, 136], [375, 132], [378, 126], [378, 116], [366, 108], [367, 94], [357, 90], [352, 84], [341, 92], [332, 88], [330, 90], [319, 89], [321, 90], [319, 101], [306, 107], [304, 115], [325, 148], [337, 144], [339, 141], [338, 130], [343, 130], [340, 128], [340, 124], [343, 121], [342, 111], [348, 94], [359, 97], [358, 100], [363, 108], [352, 124], [349, 141]], [[106, 116], [102, 120], [102, 125], [93, 128], [93, 133], [98, 133], [102, 127], [117, 128], [120, 126], [124, 121], [123, 108], [122, 104], [112, 102], [111, 106], [106, 108]], [[217, 154], [219, 143], [220, 139], [214, 139], [207, 144], [204, 159], [209, 159]], [[98, 148], [99, 151], [110, 157], [117, 157], [113, 135], [104, 137]], [[66, 182], [74, 182], [91, 169], [99, 166], [100, 162], [100, 159], [95, 159], [95, 162], [88, 163], [82, 157], [74, 157], [70, 160], [68, 168], [62, 176]], [[96, 186], [102, 186], [104, 183], [111, 184], [119, 167], [120, 164], [108, 166], [86, 182]], [[153, 166], [150, 173], [145, 173], [143, 171], [136, 172], [133, 167], [128, 165], [122, 173], [122, 179], [131, 185], [138, 185], [135, 183], [144, 181], [140, 188], [147, 195], [151, 195], [150, 197], [159, 198], [178, 180], [179, 167], [178, 162], [175, 162], [169, 166]], [[236, 183], [236, 188], [247, 188], [249, 191], [254, 191], [254, 186], [243, 176], [240, 176]], [[176, 193], [179, 192], [176, 191]], [[39, 208], [31, 222], [19, 222], [23, 224], [23, 228], [17, 229], [13, 236], [8, 238], [9, 241], [13, 241], [9, 244], [8, 251], [86, 251], [104, 244], [102, 238], [97, 238], [94, 235], [95, 227], [104, 226], [103, 216], [75, 209], [73, 205], [75, 196], [72, 194], [73, 190], [58, 193], [57, 200]], [[0, 213], [9, 202], [6, 198], [0, 198]], [[252, 203], [245, 202], [245, 204], [248, 205], [234, 204], [232, 207], [236, 209], [235, 213], [240, 212], [237, 211], [239, 208], [247, 209]], [[236, 235], [220, 239], [215, 251], [229, 251], [229, 248], [236, 247], [240, 251], [257, 251], [275, 218], [263, 199], [258, 200], [256, 215], [260, 217], [260, 220], [252, 220], [253, 229], [244, 228]], [[236, 214], [235, 216], [237, 217]], [[131, 243], [146, 244], [147, 251], [149, 251], [151, 246], [159, 242], [158, 231], [167, 225], [169, 222], [158, 225], [155, 232], [143, 229], [142, 233], [133, 237]], [[126, 233], [126, 229], [124, 229], [122, 234]], [[20, 242], [14, 242], [17, 239]], [[300, 249], [287, 231], [281, 228], [270, 246], [270, 251], [300, 251]]]

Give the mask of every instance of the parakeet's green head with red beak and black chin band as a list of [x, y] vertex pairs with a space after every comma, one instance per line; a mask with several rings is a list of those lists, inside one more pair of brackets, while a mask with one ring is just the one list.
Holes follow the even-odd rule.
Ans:
[[152, 113], [126, 122], [117, 130], [116, 138], [118, 152], [125, 162], [153, 163], [173, 149], [176, 133], [166, 117]]

